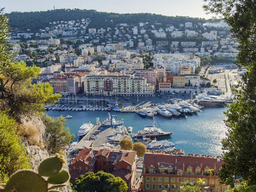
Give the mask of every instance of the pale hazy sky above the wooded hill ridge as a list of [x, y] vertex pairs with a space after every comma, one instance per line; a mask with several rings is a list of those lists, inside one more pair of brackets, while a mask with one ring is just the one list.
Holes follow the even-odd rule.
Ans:
[[155, 13], [168, 16], [210, 18], [204, 13], [203, 0], [5, 0], [5, 12], [47, 11], [53, 9], [96, 9], [101, 12]]

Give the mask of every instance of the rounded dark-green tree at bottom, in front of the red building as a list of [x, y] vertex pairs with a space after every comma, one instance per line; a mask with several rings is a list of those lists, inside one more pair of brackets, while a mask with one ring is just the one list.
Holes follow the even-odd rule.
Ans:
[[128, 186], [120, 177], [99, 171], [80, 175], [75, 180], [74, 189], [78, 192], [127, 192]]

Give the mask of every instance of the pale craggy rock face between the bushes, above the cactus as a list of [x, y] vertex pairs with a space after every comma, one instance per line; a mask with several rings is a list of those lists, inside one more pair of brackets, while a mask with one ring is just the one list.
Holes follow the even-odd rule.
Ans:
[[[24, 145], [26, 145], [27, 154], [30, 156], [30, 163], [32, 165], [32, 169], [35, 171], [38, 171], [38, 166], [40, 163], [45, 160], [47, 157], [50, 156], [47, 149], [44, 147], [44, 133], [45, 133], [45, 126], [41, 119], [34, 118], [34, 119], [28, 119], [23, 118], [21, 120], [21, 124], [25, 127], [33, 127], [36, 131], [36, 135], [33, 135], [32, 139], [40, 143], [40, 145], [31, 145], [28, 140], [23, 140]], [[68, 185], [66, 187], [58, 189], [62, 192], [72, 192], [71, 187]]]

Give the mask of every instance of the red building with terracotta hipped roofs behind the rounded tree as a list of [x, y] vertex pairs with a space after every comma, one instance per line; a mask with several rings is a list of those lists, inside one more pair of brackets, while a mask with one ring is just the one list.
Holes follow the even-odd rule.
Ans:
[[104, 171], [121, 177], [128, 185], [128, 191], [136, 186], [136, 151], [84, 147], [72, 159], [69, 166], [71, 182], [87, 172]]

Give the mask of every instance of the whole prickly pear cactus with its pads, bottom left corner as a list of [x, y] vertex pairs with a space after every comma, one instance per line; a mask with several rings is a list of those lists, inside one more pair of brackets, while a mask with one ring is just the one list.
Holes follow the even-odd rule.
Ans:
[[6, 184], [0, 184], [0, 192], [59, 192], [56, 189], [66, 186], [64, 183], [70, 178], [67, 171], [61, 170], [63, 163], [64, 157], [56, 154], [55, 157], [42, 161], [38, 172], [20, 170]]

